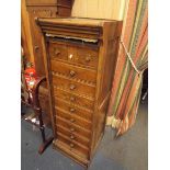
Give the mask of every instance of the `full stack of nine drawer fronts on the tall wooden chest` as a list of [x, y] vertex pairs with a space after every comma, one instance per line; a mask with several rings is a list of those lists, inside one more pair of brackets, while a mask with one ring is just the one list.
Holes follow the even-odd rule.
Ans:
[[53, 42], [49, 54], [57, 139], [72, 152], [88, 158], [98, 50]]

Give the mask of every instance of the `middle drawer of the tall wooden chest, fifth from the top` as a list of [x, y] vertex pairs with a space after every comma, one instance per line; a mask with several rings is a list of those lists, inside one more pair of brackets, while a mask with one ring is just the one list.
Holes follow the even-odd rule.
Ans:
[[87, 111], [81, 107], [78, 107], [71, 103], [65, 102], [60, 99], [55, 98], [55, 107], [59, 107], [66, 112], [77, 115], [78, 117], [84, 118], [91, 122], [92, 111]]

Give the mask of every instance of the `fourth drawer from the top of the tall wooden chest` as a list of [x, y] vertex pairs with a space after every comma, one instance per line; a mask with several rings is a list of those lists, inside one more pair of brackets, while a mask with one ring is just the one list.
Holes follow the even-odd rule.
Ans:
[[[89, 100], [87, 98], [82, 98], [82, 97], [79, 97], [77, 94], [69, 93], [69, 92], [66, 92], [65, 90], [60, 90], [57, 88], [53, 88], [53, 90], [54, 90], [54, 95], [56, 98], [65, 100], [66, 102], [69, 102], [71, 104], [76, 104], [78, 106], [82, 106], [84, 109], [93, 111], [93, 106], [94, 106], [93, 100]], [[60, 104], [57, 103], [57, 105], [60, 105]], [[61, 105], [64, 105], [64, 104], [61, 104]], [[81, 112], [81, 111], [79, 111], [79, 112]]]

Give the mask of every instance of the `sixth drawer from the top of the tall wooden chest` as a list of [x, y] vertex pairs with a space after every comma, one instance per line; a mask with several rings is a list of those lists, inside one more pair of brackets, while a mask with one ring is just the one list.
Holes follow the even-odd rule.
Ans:
[[75, 123], [75, 124], [77, 124], [83, 128], [91, 129], [91, 122], [88, 122], [86, 120], [78, 117], [73, 112], [72, 113], [66, 112], [66, 111], [57, 107], [56, 109], [56, 115], [67, 120], [70, 123]]

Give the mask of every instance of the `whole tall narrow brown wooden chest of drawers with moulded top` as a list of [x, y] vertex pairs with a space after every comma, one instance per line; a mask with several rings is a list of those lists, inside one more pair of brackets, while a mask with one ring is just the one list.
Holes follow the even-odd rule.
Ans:
[[122, 22], [37, 19], [44, 34], [54, 147], [88, 166], [101, 139]]

